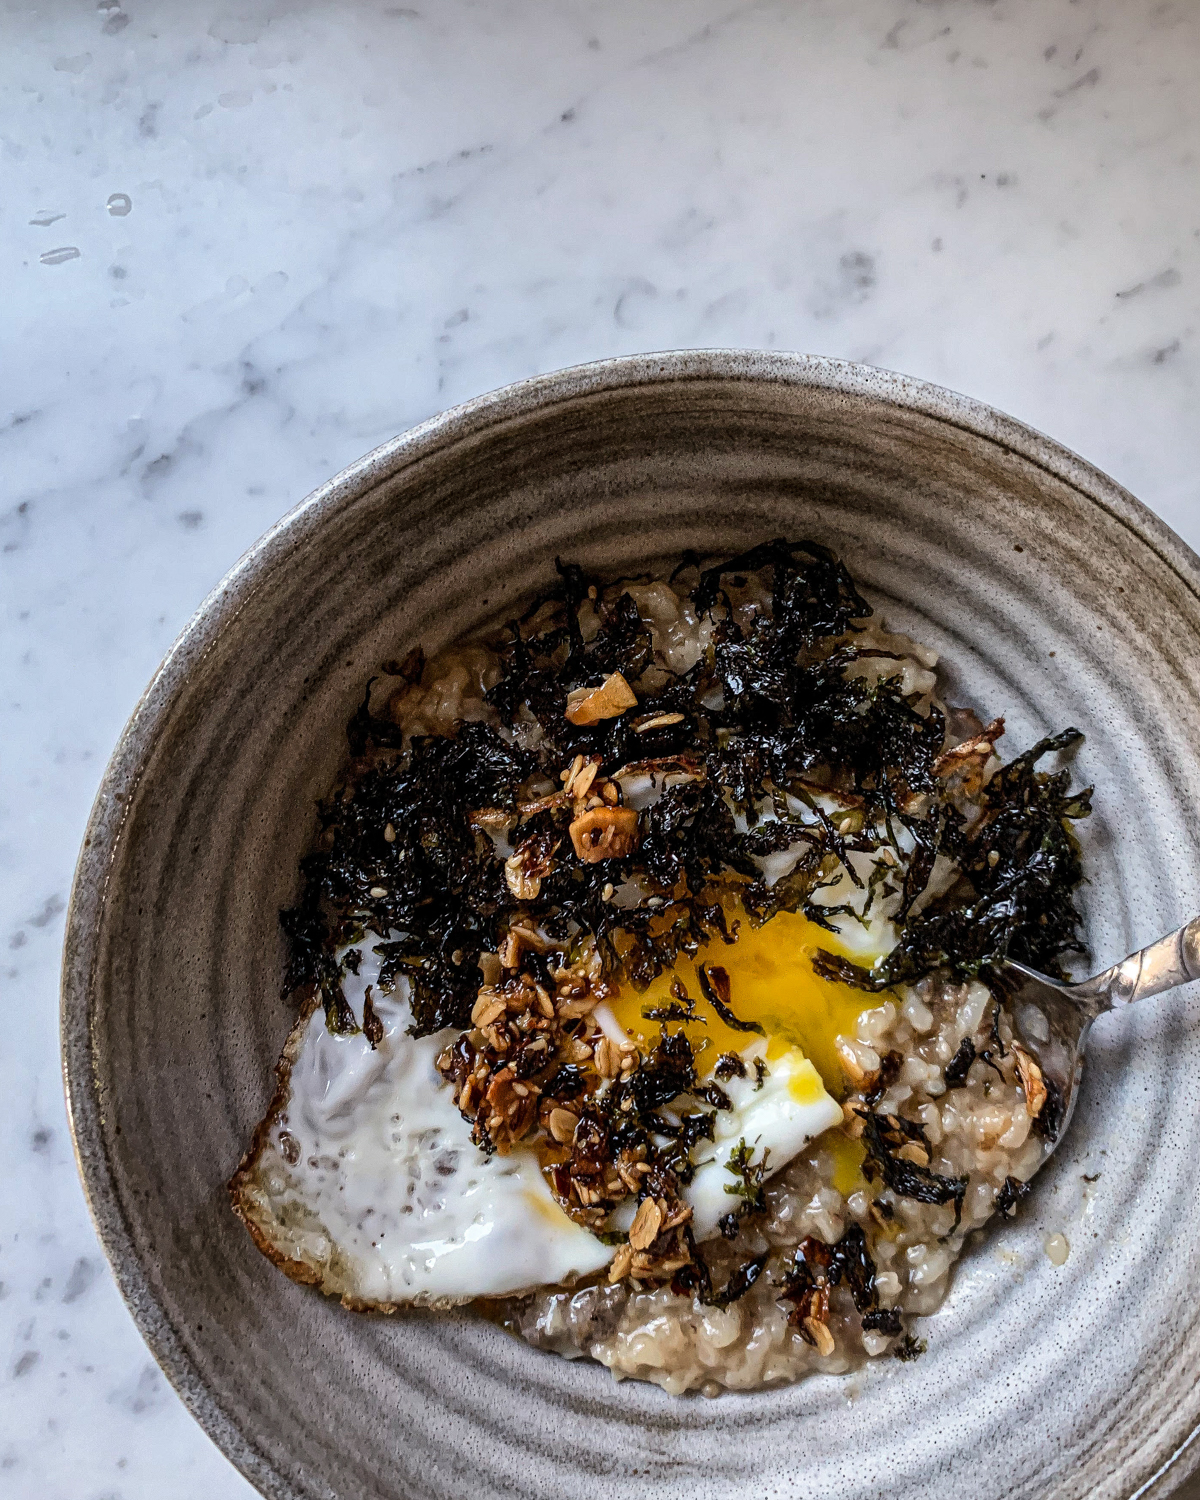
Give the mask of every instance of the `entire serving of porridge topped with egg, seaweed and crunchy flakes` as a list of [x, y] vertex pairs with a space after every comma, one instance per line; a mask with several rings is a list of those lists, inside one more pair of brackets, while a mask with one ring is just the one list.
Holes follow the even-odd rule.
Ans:
[[670, 1392], [910, 1358], [1058, 1130], [988, 974], [1078, 948], [1080, 736], [1004, 764], [813, 542], [558, 573], [368, 684], [234, 1206]]

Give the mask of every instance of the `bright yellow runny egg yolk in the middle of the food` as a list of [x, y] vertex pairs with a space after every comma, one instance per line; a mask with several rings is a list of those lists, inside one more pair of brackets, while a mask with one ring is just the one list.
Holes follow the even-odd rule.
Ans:
[[[879, 1002], [849, 984], [820, 978], [813, 970], [818, 948], [850, 957], [856, 963], [872, 962], [872, 956], [848, 948], [836, 933], [818, 927], [800, 914], [780, 912], [762, 927], [752, 927], [742, 915], [732, 944], [714, 938], [696, 958], [681, 956], [674, 969], [660, 974], [640, 993], [632, 986], [622, 986], [609, 1005], [627, 1035], [639, 1047], [648, 1048], [658, 1035], [660, 1023], [642, 1012], [670, 1005], [672, 982], [680, 980], [694, 1000], [694, 1018], [678, 1024], [682, 1024], [696, 1050], [698, 1074], [705, 1077], [712, 1072], [722, 1053], [742, 1052], [754, 1041], [753, 1032], [728, 1026], [702, 998], [698, 968], [716, 964], [729, 975], [729, 1008], [734, 1016], [742, 1022], [758, 1022], [766, 1034], [768, 1065], [772, 1058], [798, 1047], [816, 1070], [816, 1076], [810, 1076], [813, 1096], [819, 1095], [824, 1082], [830, 1094], [842, 1098], [846, 1080], [837, 1056], [837, 1038], [854, 1035], [860, 1014]], [[676, 1023], [669, 1026], [674, 1030]], [[795, 1078], [795, 1086], [804, 1089], [804, 1074]]]

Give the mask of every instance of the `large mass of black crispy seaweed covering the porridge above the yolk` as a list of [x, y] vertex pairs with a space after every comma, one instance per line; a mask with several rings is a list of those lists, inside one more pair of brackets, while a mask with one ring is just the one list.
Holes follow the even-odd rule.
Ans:
[[[350, 776], [321, 807], [300, 900], [282, 918], [288, 988], [315, 988], [332, 1028], [356, 1028], [333, 954], [364, 928], [387, 939], [381, 982], [410, 978], [423, 1035], [465, 1024], [478, 954], [495, 950], [518, 912], [562, 942], [591, 934], [604, 969], [644, 987], [681, 954], [730, 940], [730, 894], [754, 922], [802, 912], [830, 926], [842, 909], [820, 891], [842, 872], [861, 884], [852, 855], [880, 855], [870, 898], [900, 892], [900, 940], [870, 972], [819, 954], [828, 978], [879, 990], [933, 970], [986, 975], [1006, 957], [1060, 974], [1060, 957], [1078, 951], [1071, 825], [1088, 814], [1089, 792], [1072, 792], [1066, 770], [1038, 768], [1070, 750], [1077, 730], [1010, 760], [972, 822], [936, 771], [942, 712], [903, 692], [890, 652], [861, 644], [870, 606], [828, 548], [776, 538], [699, 570], [692, 603], [711, 620], [712, 645], [680, 674], [654, 663], [650, 626], [626, 585], [604, 586], [573, 562], [556, 567], [555, 586], [507, 627], [500, 680], [486, 694], [501, 724], [537, 720], [536, 753], [477, 723], [405, 747], [400, 726], [372, 708], [370, 684], [346, 726]], [[424, 658], [417, 651], [386, 670], [418, 682]], [[636, 686], [638, 712], [572, 724], [567, 694], [610, 672]], [[682, 717], [638, 734], [660, 714]], [[622, 860], [576, 858], [568, 808], [520, 822], [513, 844], [534, 840], [548, 868], [537, 897], [518, 902], [470, 813], [513, 810], [524, 783], [556, 782], [579, 753], [598, 758], [604, 777], [666, 758], [687, 766], [688, 780], [640, 813], [636, 849]], [[846, 813], [831, 813], [828, 798]], [[768, 882], [762, 861], [784, 850], [790, 868]], [[924, 900], [939, 855], [958, 878]], [[630, 879], [658, 892], [657, 909], [609, 900]], [[682, 1018], [660, 1011], [656, 1018]]]

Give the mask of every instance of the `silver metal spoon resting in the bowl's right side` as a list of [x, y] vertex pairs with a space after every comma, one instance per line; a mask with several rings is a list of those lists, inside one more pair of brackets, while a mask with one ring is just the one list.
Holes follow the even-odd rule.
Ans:
[[1048, 980], [1023, 963], [1004, 964], [998, 987], [1004, 992], [1017, 1040], [1041, 1068], [1047, 1086], [1041, 1122], [1048, 1144], [1053, 1146], [1071, 1124], [1083, 1050], [1096, 1016], [1190, 980], [1200, 980], [1200, 916], [1080, 984]]

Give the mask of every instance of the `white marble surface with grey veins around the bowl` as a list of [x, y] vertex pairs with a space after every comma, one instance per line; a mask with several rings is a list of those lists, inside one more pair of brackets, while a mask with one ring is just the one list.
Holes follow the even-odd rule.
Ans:
[[0, 1492], [249, 1496], [75, 1179], [63, 908], [172, 636], [537, 370], [765, 345], [1032, 422], [1200, 543], [1190, 0], [0, 0]]

